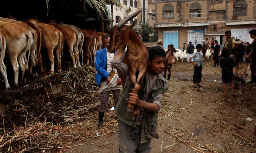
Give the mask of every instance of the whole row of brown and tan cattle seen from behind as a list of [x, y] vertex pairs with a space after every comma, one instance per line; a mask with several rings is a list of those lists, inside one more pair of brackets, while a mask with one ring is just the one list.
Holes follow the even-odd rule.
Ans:
[[[22, 80], [24, 81], [26, 81], [24, 75], [27, 70], [29, 73], [32, 73], [33, 68], [38, 71], [37, 64], [40, 64], [40, 71], [43, 72], [41, 47], [47, 50], [51, 73], [54, 73], [54, 53], [57, 58], [57, 72], [61, 72], [64, 45], [68, 48], [73, 67], [76, 68], [80, 64], [84, 65], [84, 55], [87, 56], [87, 64], [89, 64], [89, 58], [103, 47], [103, 38], [108, 34], [55, 22], [55, 20], [49, 20], [47, 23], [40, 22], [32, 18], [24, 21], [11, 16], [0, 17], [0, 68], [6, 89], [10, 85], [3, 62], [5, 51], [10, 56], [13, 67], [14, 85], [18, 85], [19, 69], [22, 71]], [[79, 57], [81, 61], [79, 61]], [[28, 65], [28, 63], [30, 64]]]

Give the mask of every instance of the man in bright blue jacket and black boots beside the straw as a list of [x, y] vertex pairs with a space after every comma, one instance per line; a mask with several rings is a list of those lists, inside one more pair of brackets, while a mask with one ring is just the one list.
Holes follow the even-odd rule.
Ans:
[[113, 59], [114, 53], [110, 53], [108, 50], [110, 36], [104, 38], [104, 44], [106, 48], [96, 52], [96, 70], [95, 74], [97, 86], [100, 85], [101, 103], [99, 111], [99, 124], [98, 127], [103, 128], [103, 117], [108, 104], [109, 93], [112, 91], [113, 99], [116, 104], [120, 95], [120, 89], [122, 88], [122, 80], [118, 77], [117, 70], [111, 66], [110, 60]]

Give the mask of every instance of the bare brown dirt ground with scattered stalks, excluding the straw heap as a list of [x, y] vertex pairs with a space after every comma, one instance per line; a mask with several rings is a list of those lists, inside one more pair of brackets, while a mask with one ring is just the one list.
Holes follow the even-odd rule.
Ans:
[[[247, 83], [243, 93], [235, 90], [237, 97], [224, 98], [220, 68], [213, 68], [211, 62], [204, 64], [203, 91], [192, 87], [193, 70], [191, 63], [173, 64], [171, 81], [168, 81], [169, 91], [164, 93], [162, 109], [158, 114], [159, 139], [153, 139], [151, 152], [254, 153], [252, 133], [256, 124], [256, 88]], [[249, 68], [247, 72], [246, 80], [250, 80]], [[107, 109], [111, 107], [108, 105]], [[104, 119], [109, 117], [114, 119], [114, 115], [105, 115]], [[105, 128], [99, 129], [94, 137], [73, 143], [74, 147], [65, 152], [117, 152], [117, 122], [114, 123], [115, 131], [106, 131], [108, 125], [104, 122]], [[235, 128], [236, 125], [242, 129]], [[200, 150], [195, 151], [193, 147]]]

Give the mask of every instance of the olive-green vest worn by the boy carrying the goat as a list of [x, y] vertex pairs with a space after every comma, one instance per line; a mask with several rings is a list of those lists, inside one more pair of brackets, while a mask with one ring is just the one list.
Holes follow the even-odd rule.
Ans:
[[[146, 75], [147, 73], [145, 74], [145, 76]], [[167, 86], [166, 80], [162, 75], [158, 74], [156, 81], [152, 86], [151, 92], [148, 94], [147, 102], [152, 103], [155, 96], [157, 96], [160, 93], [163, 93], [167, 89], [168, 89], [168, 86]], [[140, 85], [140, 91], [138, 93], [140, 100], [145, 99], [146, 90], [147, 90], [147, 80], [144, 77]], [[132, 117], [133, 117], [132, 113], [128, 113], [126, 111], [126, 107], [129, 103], [128, 101], [130, 98], [129, 93], [131, 92], [132, 92], [131, 80], [126, 78], [123, 91], [120, 94], [118, 103], [116, 104], [115, 115], [119, 120], [123, 121], [125, 124], [135, 127], [139, 118], [137, 120], [132, 120]], [[140, 108], [140, 111], [141, 110], [142, 108]], [[156, 132], [157, 132], [157, 112], [148, 111], [144, 109], [143, 116], [144, 117], [142, 120], [142, 131], [141, 131], [140, 143], [146, 143], [149, 140], [155, 138]]]

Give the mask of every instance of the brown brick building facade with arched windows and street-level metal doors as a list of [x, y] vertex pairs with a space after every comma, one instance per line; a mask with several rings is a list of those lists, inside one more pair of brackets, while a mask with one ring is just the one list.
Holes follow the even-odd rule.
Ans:
[[250, 43], [249, 31], [255, 29], [255, 0], [156, 0], [158, 38], [164, 48], [182, 48], [191, 41], [195, 46], [212, 38], [223, 45], [225, 31]]

